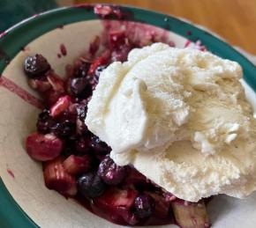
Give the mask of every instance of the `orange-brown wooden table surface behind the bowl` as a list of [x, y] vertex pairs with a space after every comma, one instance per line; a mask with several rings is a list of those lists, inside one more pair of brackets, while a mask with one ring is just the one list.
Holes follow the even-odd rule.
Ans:
[[130, 4], [206, 26], [232, 45], [256, 55], [256, 0], [75, 0], [75, 3]]

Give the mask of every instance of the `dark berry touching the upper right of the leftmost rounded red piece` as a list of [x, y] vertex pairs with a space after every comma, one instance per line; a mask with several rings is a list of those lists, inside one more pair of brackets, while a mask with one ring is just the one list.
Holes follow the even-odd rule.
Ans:
[[53, 132], [56, 136], [59, 136], [59, 137], [68, 137], [68, 136], [72, 136], [74, 129], [75, 129], [75, 125], [72, 121], [62, 121], [62, 122], [57, 122], [51, 128], [51, 132]]

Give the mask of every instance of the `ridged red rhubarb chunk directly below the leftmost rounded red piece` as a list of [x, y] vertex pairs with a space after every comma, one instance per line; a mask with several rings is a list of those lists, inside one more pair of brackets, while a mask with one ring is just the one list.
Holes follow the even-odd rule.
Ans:
[[54, 189], [62, 195], [76, 195], [76, 179], [66, 173], [63, 165], [63, 158], [56, 158], [44, 165], [43, 176], [45, 185], [49, 189]]

